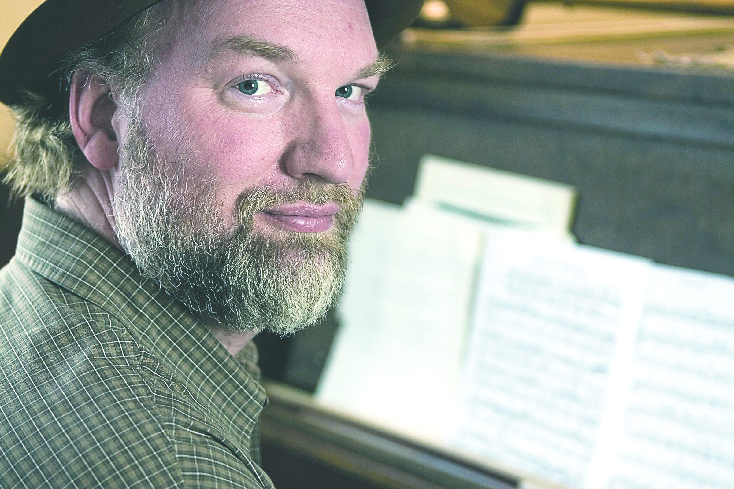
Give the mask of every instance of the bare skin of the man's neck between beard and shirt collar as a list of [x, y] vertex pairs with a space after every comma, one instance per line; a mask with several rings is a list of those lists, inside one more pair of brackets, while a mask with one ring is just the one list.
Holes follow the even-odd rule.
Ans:
[[[116, 181], [116, 167], [111, 170], [100, 170], [87, 164], [70, 187], [57, 196], [56, 210], [89, 227], [122, 250], [123, 247], [120, 246], [120, 240], [115, 233], [115, 215], [112, 213], [112, 197], [115, 195]], [[233, 333], [218, 324], [208, 326], [232, 356], [255, 337], [252, 331]]]

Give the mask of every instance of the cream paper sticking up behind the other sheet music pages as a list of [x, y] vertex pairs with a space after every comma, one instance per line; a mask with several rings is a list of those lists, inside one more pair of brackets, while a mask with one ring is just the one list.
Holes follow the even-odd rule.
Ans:
[[424, 155], [415, 181], [415, 199], [495, 224], [566, 236], [573, 221], [576, 190], [551, 180]]

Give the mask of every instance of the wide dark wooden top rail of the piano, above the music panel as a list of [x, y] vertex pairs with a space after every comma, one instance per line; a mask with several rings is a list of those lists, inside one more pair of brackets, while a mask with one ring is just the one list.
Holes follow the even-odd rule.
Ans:
[[734, 76], [402, 53], [370, 100], [545, 128], [734, 149]]

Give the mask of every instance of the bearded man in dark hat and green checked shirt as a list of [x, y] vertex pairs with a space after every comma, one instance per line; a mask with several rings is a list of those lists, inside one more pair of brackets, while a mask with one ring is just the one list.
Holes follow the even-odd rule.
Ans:
[[[403, 0], [48, 0], [0, 56], [0, 487], [271, 488], [250, 341], [344, 279]], [[377, 43], [376, 40], [377, 39]]]

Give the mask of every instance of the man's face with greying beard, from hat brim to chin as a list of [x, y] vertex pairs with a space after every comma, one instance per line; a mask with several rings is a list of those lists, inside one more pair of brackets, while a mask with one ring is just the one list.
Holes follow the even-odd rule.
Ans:
[[160, 37], [123, 112], [121, 243], [223, 326], [307, 326], [341, 287], [368, 169], [363, 1], [184, 2]]

